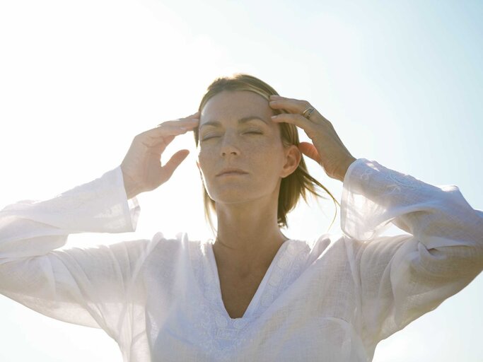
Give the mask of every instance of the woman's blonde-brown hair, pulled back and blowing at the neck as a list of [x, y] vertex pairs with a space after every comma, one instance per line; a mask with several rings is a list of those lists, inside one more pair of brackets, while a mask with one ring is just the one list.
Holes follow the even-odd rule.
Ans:
[[[233, 74], [232, 76], [221, 76], [216, 78], [206, 89], [206, 93], [204, 93], [202, 101], [199, 103], [199, 112], [202, 111], [204, 105], [206, 105], [206, 102], [208, 102], [210, 98], [223, 91], [250, 91], [261, 95], [267, 100], [269, 100], [270, 95], [279, 95], [274, 88], [255, 76], [240, 73]], [[274, 112], [276, 115], [279, 115], [280, 113], [288, 113], [285, 110], [272, 110], [272, 112]], [[284, 147], [289, 147], [291, 145], [298, 146], [300, 141], [298, 140], [296, 125], [286, 122], [281, 122], [279, 124], [281, 141]], [[194, 129], [194, 142], [196, 143], [196, 146], [198, 146], [198, 128]], [[298, 168], [296, 168], [296, 170], [293, 171], [293, 173], [291, 173], [289, 176], [281, 179], [277, 208], [277, 224], [279, 228], [288, 227], [287, 214], [289, 214], [289, 212], [295, 208], [300, 197], [303, 197], [305, 203], [307, 203], [307, 192], [310, 192], [315, 196], [322, 197], [322, 195], [318, 194], [318, 192], [315, 190], [315, 185], [324, 189], [325, 192], [330, 195], [332, 201], [340, 207], [339, 202], [337, 202], [337, 199], [334, 198], [330, 191], [324, 185], [318, 182], [318, 180], [315, 180], [314, 177], [310, 176], [305, 165], [305, 161], [303, 158], [301, 158]], [[213, 199], [211, 199], [211, 197], [209, 197], [204, 185], [203, 194], [204, 216], [206, 221], [209, 223], [211, 230], [215, 232], [213, 222], [211, 221], [211, 213], [213, 212], [216, 214], [215, 202]], [[327, 199], [326, 197], [322, 198]], [[337, 216], [337, 207], [335, 210], [334, 219], [332, 220], [329, 228], [334, 223], [335, 216]]]

